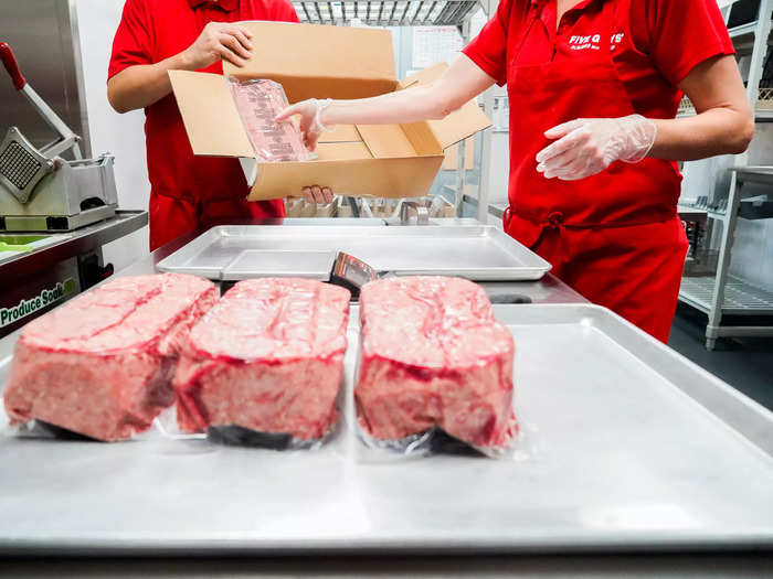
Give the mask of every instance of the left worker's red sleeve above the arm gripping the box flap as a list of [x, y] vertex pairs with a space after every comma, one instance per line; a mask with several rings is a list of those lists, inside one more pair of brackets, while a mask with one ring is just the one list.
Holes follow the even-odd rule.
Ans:
[[113, 39], [107, 78], [135, 64], [152, 64], [152, 34], [145, 0], [126, 0]]

